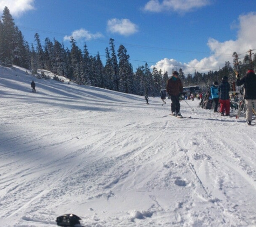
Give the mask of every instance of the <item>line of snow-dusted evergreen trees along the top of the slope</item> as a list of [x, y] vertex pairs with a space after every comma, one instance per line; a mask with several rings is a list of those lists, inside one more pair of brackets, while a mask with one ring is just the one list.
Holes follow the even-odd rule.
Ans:
[[[5, 7], [0, 19], [0, 63], [5, 67], [20, 66], [31, 70], [33, 75], [37, 75], [37, 69], [46, 69], [78, 84], [136, 95], [158, 95], [161, 89], [165, 89], [169, 79], [168, 73], [162, 72], [161, 69], [153, 68], [151, 71], [148, 63], [138, 66], [134, 72], [126, 47], [120, 45], [116, 52], [112, 38], [105, 49], [105, 64], [102, 63], [99, 52], [96, 56], [89, 55], [86, 43], [83, 49], [80, 49], [73, 37], [70, 39], [70, 49], [55, 38], [52, 41], [46, 38], [42, 45], [38, 33], [34, 34], [34, 42], [35, 45], [29, 45], [24, 39], [9, 9]], [[234, 52], [233, 55], [236, 54]], [[249, 56], [246, 55], [243, 61], [239, 62], [243, 65], [240, 67], [242, 72], [247, 69], [246, 64], [249, 60]], [[255, 55], [250, 63], [256, 65]], [[194, 74], [185, 76], [182, 68], [179, 69], [183, 86], [197, 85], [209, 88], [213, 81], [221, 81], [223, 76], [234, 79], [233, 64], [230, 62], [226, 62], [222, 69], [215, 72], [210, 70], [208, 73], [199, 73], [195, 70]]]

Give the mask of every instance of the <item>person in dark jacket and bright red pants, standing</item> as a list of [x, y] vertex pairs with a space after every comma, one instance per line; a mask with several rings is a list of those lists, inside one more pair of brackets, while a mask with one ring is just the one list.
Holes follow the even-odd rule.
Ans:
[[226, 116], [230, 115], [230, 84], [227, 76], [223, 76], [222, 83], [219, 84], [219, 103], [220, 103], [220, 114], [224, 116], [224, 111]]

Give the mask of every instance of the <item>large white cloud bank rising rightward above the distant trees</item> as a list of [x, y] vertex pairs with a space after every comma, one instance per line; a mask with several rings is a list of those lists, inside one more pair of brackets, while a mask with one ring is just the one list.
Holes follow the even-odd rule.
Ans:
[[156, 67], [158, 70], [162, 69], [169, 74], [172, 72], [172, 69], [179, 70], [179, 68], [182, 68], [185, 74], [193, 74], [195, 70], [200, 73], [207, 73], [209, 70], [218, 70], [224, 67], [227, 61], [233, 63], [232, 54], [234, 52], [241, 54], [240, 57], [243, 59], [249, 49], [256, 48], [256, 13], [251, 12], [247, 15], [239, 16], [238, 23], [237, 40], [227, 40], [224, 42], [219, 42], [213, 38], [208, 40], [207, 45], [213, 53], [209, 57], [201, 60], [193, 59], [188, 63], [165, 58], [158, 61], [151, 68]]

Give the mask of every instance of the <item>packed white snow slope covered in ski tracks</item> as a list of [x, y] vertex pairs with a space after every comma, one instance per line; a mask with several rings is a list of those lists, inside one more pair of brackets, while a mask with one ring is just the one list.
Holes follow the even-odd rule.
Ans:
[[256, 226], [256, 126], [244, 113], [188, 100], [192, 118], [179, 119], [170, 100], [61, 80], [0, 66], [0, 226], [71, 213], [86, 227]]

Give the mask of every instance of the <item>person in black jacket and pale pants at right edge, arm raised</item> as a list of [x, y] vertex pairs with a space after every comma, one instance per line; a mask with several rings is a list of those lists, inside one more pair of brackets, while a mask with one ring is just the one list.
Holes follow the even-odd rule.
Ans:
[[252, 125], [252, 108], [256, 107], [256, 75], [253, 69], [249, 69], [246, 75], [240, 79], [240, 75], [236, 72], [237, 86], [244, 84], [244, 99], [246, 104], [246, 122]]

